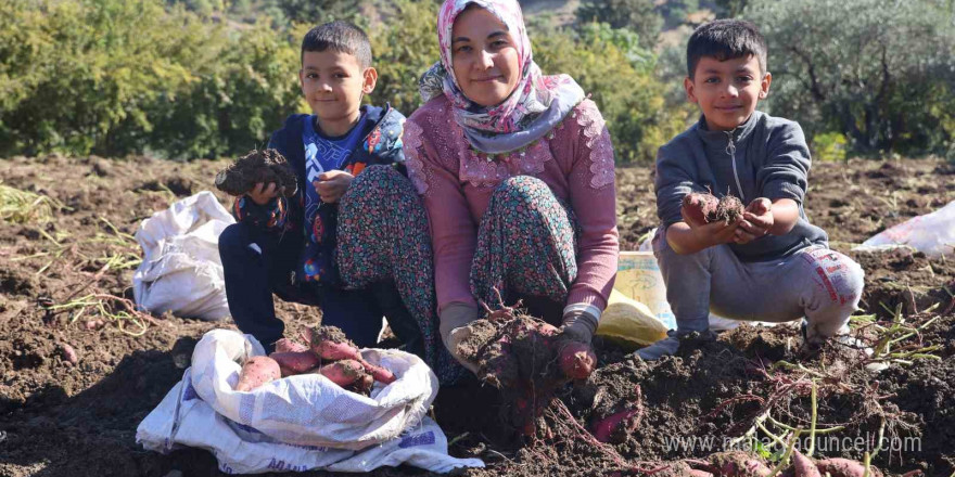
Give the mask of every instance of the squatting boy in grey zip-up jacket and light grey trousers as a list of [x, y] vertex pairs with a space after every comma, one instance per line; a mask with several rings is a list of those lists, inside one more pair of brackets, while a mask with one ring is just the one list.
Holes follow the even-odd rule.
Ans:
[[[805, 317], [817, 346], [848, 331], [863, 287], [862, 268], [828, 249], [803, 211], [810, 152], [794, 121], [755, 111], [769, 92], [766, 41], [737, 20], [699, 27], [687, 46], [684, 80], [702, 117], [657, 155], [653, 253], [676, 317], [671, 336], [637, 352], [673, 354], [678, 337], [709, 331], [709, 313], [784, 322]], [[682, 214], [691, 192], [739, 197], [736, 222], [699, 223]]]

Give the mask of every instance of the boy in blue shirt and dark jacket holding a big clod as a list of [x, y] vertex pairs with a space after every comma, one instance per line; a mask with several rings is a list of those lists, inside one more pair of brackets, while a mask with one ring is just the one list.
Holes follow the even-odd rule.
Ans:
[[275, 183], [259, 183], [235, 201], [239, 223], [219, 237], [229, 310], [269, 352], [284, 331], [272, 293], [319, 306], [322, 324], [342, 328], [359, 347], [377, 343], [384, 315], [406, 349], [420, 352], [420, 333], [394, 283], [346, 291], [336, 268], [339, 201], [366, 166], [404, 162], [405, 117], [389, 106], [361, 106], [378, 73], [368, 37], [355, 25], [313, 28], [301, 61], [298, 80], [314, 114], [290, 116], [268, 145], [294, 169], [297, 192], [284, 197]]

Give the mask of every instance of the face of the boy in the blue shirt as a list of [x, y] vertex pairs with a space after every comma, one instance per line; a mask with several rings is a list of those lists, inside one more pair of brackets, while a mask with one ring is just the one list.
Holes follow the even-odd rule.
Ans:
[[374, 90], [378, 72], [361, 68], [358, 59], [332, 50], [305, 51], [298, 82], [302, 94], [321, 123], [353, 121], [362, 94]]

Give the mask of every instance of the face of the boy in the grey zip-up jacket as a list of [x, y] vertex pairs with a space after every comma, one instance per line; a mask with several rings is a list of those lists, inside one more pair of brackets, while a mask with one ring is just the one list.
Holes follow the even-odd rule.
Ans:
[[754, 55], [721, 62], [703, 56], [693, 78], [684, 80], [690, 102], [700, 105], [712, 131], [729, 131], [746, 123], [756, 102], [769, 93], [772, 76], [762, 75]]

